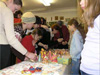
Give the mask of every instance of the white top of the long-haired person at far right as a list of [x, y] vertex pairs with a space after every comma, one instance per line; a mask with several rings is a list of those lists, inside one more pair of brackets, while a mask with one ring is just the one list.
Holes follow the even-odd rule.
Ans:
[[80, 69], [91, 75], [100, 75], [100, 14], [89, 27], [82, 51]]

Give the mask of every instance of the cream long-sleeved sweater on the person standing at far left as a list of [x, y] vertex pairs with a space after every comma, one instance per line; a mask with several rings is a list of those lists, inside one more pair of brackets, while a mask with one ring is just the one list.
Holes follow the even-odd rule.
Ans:
[[27, 52], [15, 37], [12, 11], [0, 1], [0, 45], [8, 44], [23, 55]]

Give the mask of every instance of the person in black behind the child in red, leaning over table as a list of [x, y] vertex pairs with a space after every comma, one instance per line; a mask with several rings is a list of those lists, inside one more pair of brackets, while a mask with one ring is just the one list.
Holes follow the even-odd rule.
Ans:
[[43, 32], [42, 39], [36, 43], [36, 52], [37, 52], [37, 55], [39, 55], [42, 48], [46, 50], [48, 49], [48, 44], [50, 41], [50, 32], [46, 31], [45, 28], [41, 27], [41, 18], [39, 16], [35, 16], [35, 17], [36, 17], [36, 22], [33, 25], [33, 29], [31, 29], [31, 31], [27, 30], [27, 33], [28, 32], [31, 33], [34, 29], [37, 29], [37, 28], [39, 28]]

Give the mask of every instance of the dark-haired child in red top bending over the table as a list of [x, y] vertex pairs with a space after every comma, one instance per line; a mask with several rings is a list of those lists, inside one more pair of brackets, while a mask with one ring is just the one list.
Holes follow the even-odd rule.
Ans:
[[[31, 35], [25, 36], [21, 43], [22, 45], [29, 51], [35, 53], [35, 43], [42, 38], [42, 32], [40, 29], [34, 29]], [[24, 55], [20, 55], [20, 57], [23, 57], [23, 60], [27, 60]], [[20, 58], [17, 58], [17, 63], [21, 62]]]

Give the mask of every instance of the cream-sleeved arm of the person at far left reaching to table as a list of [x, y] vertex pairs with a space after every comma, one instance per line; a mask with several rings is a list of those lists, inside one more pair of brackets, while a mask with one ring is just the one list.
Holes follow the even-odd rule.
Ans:
[[21, 45], [21, 43], [15, 37], [13, 13], [10, 11], [10, 9], [5, 9], [5, 11], [2, 14], [5, 34], [8, 43], [21, 54], [25, 55], [27, 53], [27, 50]]

